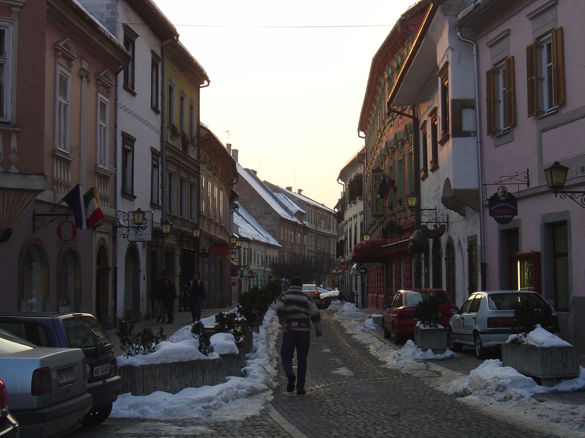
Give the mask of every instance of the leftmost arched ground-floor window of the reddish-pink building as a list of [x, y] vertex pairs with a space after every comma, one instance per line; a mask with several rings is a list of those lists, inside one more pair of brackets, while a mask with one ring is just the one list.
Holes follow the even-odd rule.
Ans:
[[21, 274], [20, 310], [47, 311], [47, 256], [41, 246], [31, 245], [26, 249]]

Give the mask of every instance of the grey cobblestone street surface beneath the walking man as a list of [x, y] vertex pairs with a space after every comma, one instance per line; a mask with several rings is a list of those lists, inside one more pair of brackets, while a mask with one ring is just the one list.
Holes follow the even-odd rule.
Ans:
[[[387, 369], [322, 312], [311, 338], [307, 394], [285, 391], [277, 357], [274, 398], [259, 415], [232, 421], [109, 419], [71, 437], [553, 437], [504, 422], [444, 394], [411, 374]], [[280, 340], [280, 336], [279, 336]], [[278, 349], [279, 345], [277, 345]]]

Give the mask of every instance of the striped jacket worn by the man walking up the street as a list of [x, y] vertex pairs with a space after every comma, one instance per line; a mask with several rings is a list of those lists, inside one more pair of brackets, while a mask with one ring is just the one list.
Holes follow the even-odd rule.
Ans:
[[301, 286], [291, 286], [280, 294], [276, 302], [276, 315], [283, 328], [308, 331], [311, 321], [315, 333], [321, 335], [321, 314], [311, 297], [302, 291]]

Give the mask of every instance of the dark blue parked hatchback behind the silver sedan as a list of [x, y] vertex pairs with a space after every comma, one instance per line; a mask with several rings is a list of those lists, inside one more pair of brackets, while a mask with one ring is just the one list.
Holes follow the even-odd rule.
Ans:
[[0, 328], [42, 347], [80, 348], [88, 367], [87, 392], [94, 397], [84, 425], [98, 425], [112, 412], [122, 388], [112, 342], [87, 313], [19, 312], [0, 314]]

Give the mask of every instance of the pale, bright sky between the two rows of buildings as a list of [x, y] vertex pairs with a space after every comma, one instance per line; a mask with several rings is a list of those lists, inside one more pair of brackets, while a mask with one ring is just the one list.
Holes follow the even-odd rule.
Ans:
[[211, 81], [201, 122], [261, 179], [335, 207], [371, 58], [416, 0], [154, 2]]

